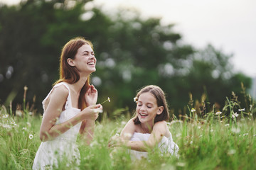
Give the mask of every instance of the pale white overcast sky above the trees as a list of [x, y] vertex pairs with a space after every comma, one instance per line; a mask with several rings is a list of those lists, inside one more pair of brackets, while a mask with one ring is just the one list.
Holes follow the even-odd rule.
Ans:
[[[0, 0], [17, 4], [20, 0]], [[159, 17], [174, 23], [183, 41], [203, 48], [209, 43], [225, 54], [233, 54], [235, 72], [256, 77], [255, 0], [94, 0], [105, 11], [133, 8], [142, 17]]]

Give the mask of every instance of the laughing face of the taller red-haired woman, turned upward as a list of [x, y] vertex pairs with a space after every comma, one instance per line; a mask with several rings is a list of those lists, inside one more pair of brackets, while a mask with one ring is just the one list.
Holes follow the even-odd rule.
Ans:
[[92, 72], [96, 71], [96, 58], [95, 54], [92, 50], [92, 47], [90, 45], [82, 45], [78, 49], [77, 54], [75, 55], [75, 60], [73, 60], [73, 63], [75, 64], [75, 67], [77, 67], [79, 72], [85, 72], [87, 74], [91, 74]]

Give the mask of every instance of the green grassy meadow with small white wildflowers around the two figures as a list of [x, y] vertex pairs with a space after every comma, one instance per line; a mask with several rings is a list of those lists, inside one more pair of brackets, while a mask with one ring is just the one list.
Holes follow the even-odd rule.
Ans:
[[[211, 111], [199, 118], [196, 109], [190, 115], [174, 118], [168, 123], [174, 142], [180, 148], [178, 158], [151, 151], [148, 159], [132, 161], [127, 148], [109, 148], [110, 137], [119, 134], [129, 113], [114, 119], [102, 113], [95, 125], [95, 137], [90, 146], [78, 137], [81, 164], [69, 166], [62, 162], [58, 169], [255, 169], [256, 128], [253, 105], [250, 112], [234, 111], [229, 102], [220, 111]], [[228, 115], [225, 113], [228, 110]], [[41, 144], [41, 116], [28, 111], [10, 113], [0, 108], [0, 169], [31, 169]]]

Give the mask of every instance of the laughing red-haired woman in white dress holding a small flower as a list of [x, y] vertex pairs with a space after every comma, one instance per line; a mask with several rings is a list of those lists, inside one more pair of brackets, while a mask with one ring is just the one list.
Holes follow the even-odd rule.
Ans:
[[33, 169], [52, 169], [58, 163], [80, 164], [75, 144], [78, 132], [90, 144], [95, 120], [102, 111], [97, 90], [89, 84], [95, 72], [96, 58], [92, 43], [84, 38], [70, 40], [60, 56], [60, 79], [43, 100], [41, 145]]

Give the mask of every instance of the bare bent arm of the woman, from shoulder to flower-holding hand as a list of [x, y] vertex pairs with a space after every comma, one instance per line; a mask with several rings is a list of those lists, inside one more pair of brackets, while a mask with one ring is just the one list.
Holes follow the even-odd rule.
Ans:
[[95, 118], [97, 118], [98, 113], [95, 113], [94, 110], [95, 108], [100, 107], [100, 105], [87, 107], [73, 118], [70, 118], [70, 120], [55, 125], [56, 121], [60, 117], [60, 113], [63, 111], [63, 106], [67, 101], [67, 98], [68, 89], [66, 89], [65, 86], [58, 86], [52, 91], [40, 129], [40, 139], [42, 142], [58, 137], [74, 125], [80, 123], [82, 120], [95, 120]]

